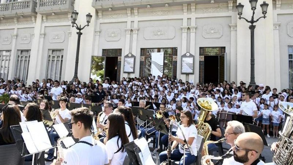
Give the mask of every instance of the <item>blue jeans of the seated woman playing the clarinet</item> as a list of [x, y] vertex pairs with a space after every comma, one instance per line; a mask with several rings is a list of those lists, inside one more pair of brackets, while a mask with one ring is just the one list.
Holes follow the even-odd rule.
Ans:
[[[160, 158], [160, 163], [162, 163], [163, 161], [166, 161], [168, 159], [167, 156], [167, 151], [163, 151], [159, 154], [159, 158]], [[191, 155], [190, 153], [185, 153], [185, 165], [188, 164], [192, 164], [196, 161], [196, 156], [195, 155]], [[175, 161], [179, 161], [179, 165], [183, 165], [183, 154], [180, 153], [179, 149], [174, 149], [171, 152], [171, 159], [175, 160]]]

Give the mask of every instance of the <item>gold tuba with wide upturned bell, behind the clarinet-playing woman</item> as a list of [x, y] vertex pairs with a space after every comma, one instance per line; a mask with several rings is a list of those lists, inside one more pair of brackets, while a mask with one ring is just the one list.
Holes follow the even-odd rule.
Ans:
[[197, 116], [197, 134], [201, 135], [204, 138], [204, 142], [209, 139], [209, 136], [212, 133], [212, 128], [208, 123], [205, 123], [205, 118], [209, 112], [215, 111], [218, 109], [217, 103], [214, 102], [212, 98], [199, 98], [197, 99], [197, 104], [200, 106], [200, 114]]

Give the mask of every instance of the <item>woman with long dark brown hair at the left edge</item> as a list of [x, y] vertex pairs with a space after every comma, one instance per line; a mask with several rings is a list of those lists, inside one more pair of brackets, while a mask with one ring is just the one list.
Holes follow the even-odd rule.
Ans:
[[15, 143], [10, 126], [19, 125], [21, 115], [18, 106], [6, 105], [2, 108], [2, 127], [0, 128], [0, 145]]

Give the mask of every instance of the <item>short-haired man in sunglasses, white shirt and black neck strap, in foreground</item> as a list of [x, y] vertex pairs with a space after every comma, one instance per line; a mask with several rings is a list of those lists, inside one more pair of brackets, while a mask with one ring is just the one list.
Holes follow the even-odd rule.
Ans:
[[[79, 142], [75, 143], [60, 160], [56, 159], [53, 165], [105, 165], [109, 163], [105, 145], [91, 136], [91, 126], [93, 122], [93, 112], [88, 108], [82, 107], [72, 110], [71, 123], [74, 138]], [[98, 153], [98, 154], [97, 154]]]

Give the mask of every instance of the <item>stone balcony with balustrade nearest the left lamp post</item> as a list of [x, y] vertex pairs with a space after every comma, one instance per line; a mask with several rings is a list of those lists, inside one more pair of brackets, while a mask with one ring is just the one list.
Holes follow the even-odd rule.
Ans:
[[38, 13], [71, 13], [75, 0], [39, 0], [36, 11]]

